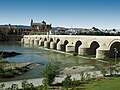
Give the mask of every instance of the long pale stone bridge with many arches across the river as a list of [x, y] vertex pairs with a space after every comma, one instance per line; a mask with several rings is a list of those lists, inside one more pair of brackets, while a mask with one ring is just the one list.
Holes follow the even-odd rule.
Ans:
[[99, 59], [120, 57], [120, 36], [25, 35], [21, 42]]

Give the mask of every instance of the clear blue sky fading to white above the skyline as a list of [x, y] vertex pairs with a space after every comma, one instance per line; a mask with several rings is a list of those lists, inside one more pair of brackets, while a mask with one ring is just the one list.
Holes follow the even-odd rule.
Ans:
[[0, 0], [0, 24], [120, 29], [120, 0]]

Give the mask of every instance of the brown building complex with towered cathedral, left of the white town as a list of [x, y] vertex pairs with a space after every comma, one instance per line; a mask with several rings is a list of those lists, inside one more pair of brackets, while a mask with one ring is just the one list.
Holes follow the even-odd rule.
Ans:
[[47, 34], [52, 29], [51, 24], [46, 24], [45, 21], [41, 23], [34, 23], [31, 20], [30, 26], [23, 25], [0, 25], [0, 35], [33, 35], [33, 34]]

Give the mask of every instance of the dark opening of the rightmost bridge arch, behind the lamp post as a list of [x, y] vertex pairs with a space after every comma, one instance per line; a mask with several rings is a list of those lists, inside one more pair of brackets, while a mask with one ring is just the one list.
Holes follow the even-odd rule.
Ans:
[[115, 48], [118, 51], [117, 57], [120, 57], [120, 42], [112, 43], [112, 45], [110, 46], [110, 50], [109, 50], [109, 57], [115, 57], [115, 53], [116, 53]]

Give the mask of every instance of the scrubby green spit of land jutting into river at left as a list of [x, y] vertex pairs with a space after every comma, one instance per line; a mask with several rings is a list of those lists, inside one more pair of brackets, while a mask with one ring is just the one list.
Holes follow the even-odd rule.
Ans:
[[32, 62], [17, 63], [0, 60], [0, 79], [16, 77], [31, 70], [37, 65], [38, 64]]

